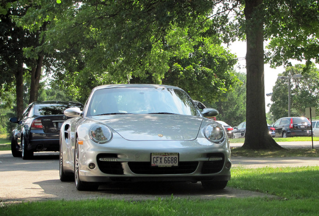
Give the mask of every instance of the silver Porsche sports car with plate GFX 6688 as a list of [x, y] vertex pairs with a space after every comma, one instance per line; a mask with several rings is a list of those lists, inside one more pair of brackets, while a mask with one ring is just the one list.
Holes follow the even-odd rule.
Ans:
[[204, 116], [181, 88], [156, 84], [95, 87], [83, 110], [60, 131], [60, 179], [78, 190], [111, 181], [201, 181], [222, 189], [230, 180], [224, 127]]

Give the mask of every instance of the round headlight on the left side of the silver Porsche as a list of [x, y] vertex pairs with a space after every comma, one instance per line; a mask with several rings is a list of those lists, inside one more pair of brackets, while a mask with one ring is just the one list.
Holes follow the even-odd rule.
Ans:
[[112, 131], [104, 124], [94, 124], [90, 129], [90, 136], [97, 143], [105, 143], [111, 140]]

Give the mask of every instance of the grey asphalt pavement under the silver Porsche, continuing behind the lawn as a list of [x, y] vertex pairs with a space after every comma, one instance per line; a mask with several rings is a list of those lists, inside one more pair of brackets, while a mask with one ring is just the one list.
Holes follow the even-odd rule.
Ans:
[[[239, 146], [240, 144], [238, 144]], [[319, 145], [319, 142], [318, 142]], [[319, 158], [244, 158], [233, 157], [233, 166], [302, 166], [319, 165]], [[226, 187], [206, 191], [201, 183], [151, 182], [109, 183], [98, 191], [78, 191], [74, 182], [59, 179], [59, 153], [38, 152], [32, 160], [13, 157], [11, 151], [0, 151], [0, 205], [24, 201], [55, 199], [96, 199], [100, 197], [125, 200], [157, 199], [158, 197], [203, 198], [268, 196], [264, 193]]]

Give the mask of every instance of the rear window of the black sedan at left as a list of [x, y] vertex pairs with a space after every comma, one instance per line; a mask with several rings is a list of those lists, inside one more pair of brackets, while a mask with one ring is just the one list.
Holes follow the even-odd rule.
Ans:
[[70, 107], [79, 107], [82, 109], [83, 105], [80, 103], [45, 103], [35, 105], [35, 115], [56, 115], [63, 114], [64, 110]]

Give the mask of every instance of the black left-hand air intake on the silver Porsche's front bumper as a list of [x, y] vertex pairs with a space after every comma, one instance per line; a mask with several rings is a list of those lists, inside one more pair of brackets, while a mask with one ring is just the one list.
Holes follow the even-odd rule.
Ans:
[[97, 165], [99, 169], [106, 174], [123, 174], [123, 167], [121, 162], [117, 161], [100, 161], [101, 157], [112, 157], [117, 158], [117, 154], [98, 154], [97, 155]]

